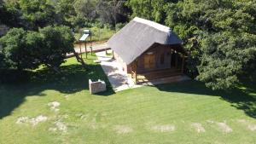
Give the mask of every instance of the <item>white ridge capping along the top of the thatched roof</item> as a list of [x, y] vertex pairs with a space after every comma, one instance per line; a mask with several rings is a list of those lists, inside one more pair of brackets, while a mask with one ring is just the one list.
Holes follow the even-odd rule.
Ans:
[[167, 33], [172, 32], [170, 27], [161, 25], [161, 24], [159, 24], [157, 22], [154, 22], [154, 21], [151, 21], [151, 20], [145, 20], [145, 19], [142, 19], [142, 18], [139, 18], [139, 17], [135, 17], [133, 20], [136, 21], [136, 22], [143, 23], [145, 25], [154, 27], [155, 29], [158, 29], [161, 32], [167, 32]]

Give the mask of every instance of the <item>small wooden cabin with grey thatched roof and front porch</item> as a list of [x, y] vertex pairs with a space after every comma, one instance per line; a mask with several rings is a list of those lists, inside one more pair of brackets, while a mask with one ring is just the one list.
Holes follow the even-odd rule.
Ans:
[[108, 40], [114, 59], [136, 83], [183, 74], [182, 43], [170, 27], [138, 17]]

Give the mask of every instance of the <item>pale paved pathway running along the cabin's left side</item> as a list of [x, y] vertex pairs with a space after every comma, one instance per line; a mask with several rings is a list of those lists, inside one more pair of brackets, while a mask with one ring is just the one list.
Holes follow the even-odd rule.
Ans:
[[108, 76], [114, 91], [141, 87], [141, 85], [134, 84], [132, 79], [122, 70], [122, 66], [115, 60], [112, 60], [111, 56], [107, 56], [104, 51], [98, 52], [96, 55], [98, 60], [101, 61], [102, 69]]

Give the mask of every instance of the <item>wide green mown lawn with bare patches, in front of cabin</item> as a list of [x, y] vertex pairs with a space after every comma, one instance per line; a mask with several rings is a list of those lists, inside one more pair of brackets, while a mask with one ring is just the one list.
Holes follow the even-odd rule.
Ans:
[[[188, 81], [90, 95], [88, 78], [106, 80], [94, 58], [89, 71], [71, 58], [65, 76], [43, 68], [30, 82], [1, 85], [0, 143], [256, 143], [255, 85], [212, 92]], [[53, 101], [60, 106], [50, 109]]]

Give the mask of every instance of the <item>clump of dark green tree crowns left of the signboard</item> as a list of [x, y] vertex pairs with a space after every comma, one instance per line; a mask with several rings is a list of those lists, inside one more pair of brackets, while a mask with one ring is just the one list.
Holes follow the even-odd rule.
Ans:
[[74, 37], [65, 26], [47, 26], [39, 32], [13, 28], [0, 38], [1, 69], [35, 69], [44, 64], [58, 71], [67, 53], [73, 52]]

